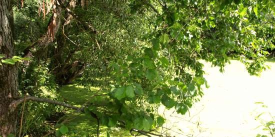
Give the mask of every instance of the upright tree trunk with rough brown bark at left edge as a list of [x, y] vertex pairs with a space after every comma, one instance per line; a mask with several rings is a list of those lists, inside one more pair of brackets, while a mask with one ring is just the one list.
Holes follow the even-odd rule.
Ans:
[[[14, 55], [13, 46], [13, 13], [11, 0], [0, 0], [0, 54], [4, 58]], [[8, 105], [18, 98], [16, 65], [0, 65], [0, 135], [5, 137], [15, 133], [16, 111], [9, 112]]]

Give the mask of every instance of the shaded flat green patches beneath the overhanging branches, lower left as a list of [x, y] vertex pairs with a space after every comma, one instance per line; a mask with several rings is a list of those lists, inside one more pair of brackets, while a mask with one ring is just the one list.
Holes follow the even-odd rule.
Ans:
[[[70, 84], [60, 87], [59, 92], [69, 104], [79, 107], [97, 90], [98, 88], [96, 87], [90, 87], [90, 91], [86, 91], [83, 86]], [[95, 99], [103, 98], [97, 97]], [[89, 114], [74, 113], [72, 110], [67, 111], [66, 115], [68, 117], [72, 117], [69, 122], [65, 123], [65, 125], [69, 128], [69, 132], [66, 136], [96, 136], [97, 123], [95, 118], [91, 117]], [[99, 136], [106, 136], [107, 132], [112, 134], [112, 136], [131, 136], [127, 130], [120, 128], [108, 128], [103, 125], [100, 125], [99, 132]]]

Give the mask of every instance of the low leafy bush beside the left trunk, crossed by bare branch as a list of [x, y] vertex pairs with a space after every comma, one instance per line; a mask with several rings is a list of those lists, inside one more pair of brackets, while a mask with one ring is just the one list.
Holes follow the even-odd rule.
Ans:
[[[48, 73], [48, 62], [30, 65], [20, 82], [21, 96], [27, 93], [32, 96], [62, 101], [57, 92], [54, 76]], [[43, 102], [27, 101], [24, 109], [23, 134], [42, 136], [54, 126], [59, 119], [63, 107]], [[19, 113], [21, 114], [21, 113]]]

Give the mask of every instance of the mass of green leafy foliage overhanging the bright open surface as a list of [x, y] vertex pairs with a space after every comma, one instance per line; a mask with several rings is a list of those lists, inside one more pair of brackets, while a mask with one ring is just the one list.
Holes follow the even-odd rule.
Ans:
[[[208, 85], [201, 60], [224, 71], [229, 58], [237, 58], [253, 75], [268, 68], [264, 61], [267, 50], [274, 48], [274, 4], [274, 0], [24, 0], [23, 7], [19, 3], [13, 7], [14, 40], [17, 54], [31, 59], [1, 62], [23, 60], [18, 64], [22, 96], [27, 92], [62, 100], [58, 86], [75, 82], [87, 91], [96, 86], [99, 92], [88, 98], [86, 114], [94, 114], [107, 127], [152, 131], [164, 123], [157, 113], [161, 104], [185, 114], [203, 95], [201, 86]], [[52, 10], [60, 10], [54, 34]], [[45, 33], [50, 40], [41, 40]], [[95, 99], [97, 95], [103, 99]], [[27, 108], [30, 115], [42, 113], [36, 124], [25, 125], [28, 134], [34, 129], [29, 127], [62, 110], [35, 102], [28, 102]], [[64, 124], [56, 125], [60, 127], [56, 135], [68, 132]]]

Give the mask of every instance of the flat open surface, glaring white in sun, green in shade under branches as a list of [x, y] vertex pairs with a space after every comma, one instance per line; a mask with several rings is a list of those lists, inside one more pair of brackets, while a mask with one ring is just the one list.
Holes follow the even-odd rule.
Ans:
[[[180, 115], [173, 109], [165, 110], [167, 121], [163, 130], [169, 128], [171, 135], [175, 136], [197, 137], [250, 137], [263, 133], [262, 128], [258, 127], [260, 122], [255, 117], [264, 111], [275, 115], [275, 89], [272, 86], [275, 63], [267, 64], [271, 68], [257, 77], [250, 76], [244, 65], [236, 60], [231, 60], [231, 64], [225, 66], [224, 73], [220, 73], [218, 67], [211, 67], [210, 63], [204, 62], [204, 76], [210, 87], [204, 89], [204, 95], [194, 103], [189, 114]], [[83, 92], [83, 87], [75, 85], [66, 85], [60, 89], [61, 95], [75, 105], [83, 103]], [[86, 97], [91, 93], [87, 92]], [[262, 108], [262, 104], [255, 102], [263, 102], [268, 107]], [[163, 107], [159, 112], [163, 112]], [[94, 133], [95, 120], [89, 120], [91, 117], [84, 114], [79, 117], [71, 121], [69, 127], [74, 133], [69, 136], [84, 136], [89, 131]], [[264, 114], [262, 118], [270, 119]], [[102, 136], [106, 135], [104, 127], [100, 131]], [[129, 136], [127, 131], [117, 128], [110, 132], [114, 136]]]

